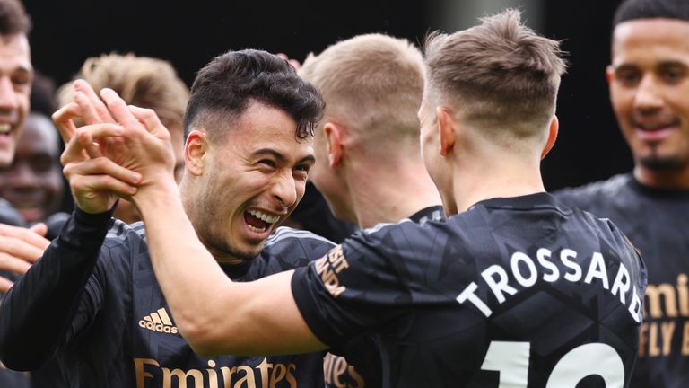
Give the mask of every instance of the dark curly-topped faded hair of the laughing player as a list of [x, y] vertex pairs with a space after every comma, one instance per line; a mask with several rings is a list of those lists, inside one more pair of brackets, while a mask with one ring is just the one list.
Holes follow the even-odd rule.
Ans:
[[222, 142], [231, 123], [255, 102], [292, 117], [297, 139], [313, 137], [325, 107], [318, 90], [283, 58], [257, 49], [227, 51], [196, 74], [184, 117], [185, 137], [203, 127], [208, 137]]

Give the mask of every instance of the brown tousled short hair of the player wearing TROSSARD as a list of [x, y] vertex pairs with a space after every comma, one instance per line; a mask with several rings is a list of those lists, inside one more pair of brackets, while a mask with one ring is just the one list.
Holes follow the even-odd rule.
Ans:
[[481, 128], [512, 128], [532, 137], [554, 115], [566, 62], [560, 43], [538, 36], [507, 9], [451, 35], [432, 32], [424, 45], [426, 97], [451, 103]]

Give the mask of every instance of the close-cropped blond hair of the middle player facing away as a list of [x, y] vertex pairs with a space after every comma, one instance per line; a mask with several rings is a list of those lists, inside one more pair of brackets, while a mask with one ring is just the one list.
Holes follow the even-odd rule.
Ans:
[[310, 55], [299, 74], [318, 87], [326, 115], [362, 137], [418, 142], [416, 116], [423, 96], [423, 55], [406, 39], [369, 33]]

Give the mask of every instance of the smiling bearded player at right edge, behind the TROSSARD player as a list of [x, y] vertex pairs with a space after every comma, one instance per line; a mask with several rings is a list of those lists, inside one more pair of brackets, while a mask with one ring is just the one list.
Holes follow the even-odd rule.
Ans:
[[649, 271], [632, 386], [689, 386], [689, 3], [627, 0], [606, 76], [632, 172], [557, 198], [609, 217]]

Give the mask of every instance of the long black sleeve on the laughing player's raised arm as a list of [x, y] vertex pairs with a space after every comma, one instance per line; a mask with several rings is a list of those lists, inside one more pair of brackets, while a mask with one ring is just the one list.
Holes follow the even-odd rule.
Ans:
[[85, 323], [84, 313], [95, 311], [100, 289], [87, 284], [111, 216], [111, 211], [90, 215], [76, 209], [43, 257], [5, 296], [0, 307], [0, 359], [5, 366], [39, 368], [65, 334], [74, 331], [75, 316]]

